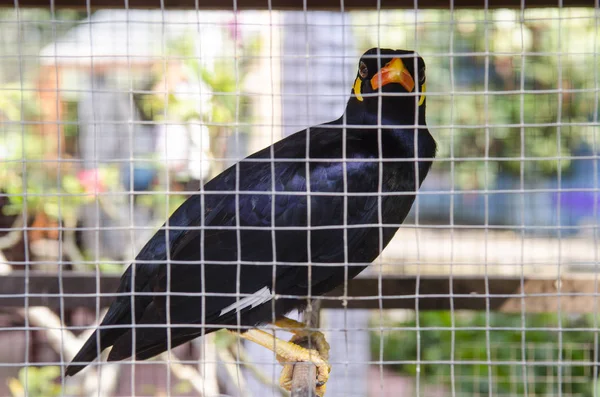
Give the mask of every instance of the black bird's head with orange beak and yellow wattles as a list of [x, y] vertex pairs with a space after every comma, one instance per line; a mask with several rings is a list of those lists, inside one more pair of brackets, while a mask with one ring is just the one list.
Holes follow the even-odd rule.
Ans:
[[[414, 51], [372, 48], [358, 62], [351, 101], [391, 121], [425, 124], [425, 62]], [[417, 116], [418, 114], [418, 116]]]

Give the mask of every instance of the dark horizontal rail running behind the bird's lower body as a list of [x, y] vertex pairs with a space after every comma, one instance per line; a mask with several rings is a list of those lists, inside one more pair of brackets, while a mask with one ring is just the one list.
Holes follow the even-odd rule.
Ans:
[[[26, 280], [23, 272], [13, 272], [0, 278], [0, 308], [23, 307], [25, 283], [29, 284], [29, 305], [59, 307], [62, 299], [65, 309], [108, 306], [115, 297], [120, 276], [100, 275], [100, 290], [96, 289], [95, 273], [63, 273], [63, 295], [59, 293], [56, 274], [31, 272]], [[485, 285], [489, 286], [486, 295]], [[486, 298], [490, 309], [503, 312], [521, 310], [521, 294], [529, 313], [555, 312], [560, 297], [561, 310], [570, 313], [590, 313], [598, 299], [594, 293], [593, 277], [526, 278], [521, 291], [519, 277], [454, 276], [452, 291], [448, 276], [388, 276], [382, 283], [381, 299], [385, 309], [414, 309], [418, 284], [419, 310], [450, 310], [451, 299], [455, 310], [485, 310]], [[560, 283], [560, 293], [558, 285]], [[348, 298], [342, 288], [320, 298], [322, 309], [378, 309], [379, 287], [377, 277], [360, 277], [348, 284]]]

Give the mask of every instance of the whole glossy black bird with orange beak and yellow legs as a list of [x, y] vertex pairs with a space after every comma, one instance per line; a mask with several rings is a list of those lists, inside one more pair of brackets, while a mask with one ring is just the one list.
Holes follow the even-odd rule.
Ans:
[[[280, 361], [314, 362], [322, 395], [329, 347], [285, 315], [355, 277], [390, 242], [436, 154], [425, 106], [417, 53], [367, 51], [342, 117], [254, 153], [173, 213], [66, 375], [109, 346], [109, 361], [144, 360], [226, 328]], [[274, 336], [255, 328], [269, 323], [296, 339], [273, 349]], [[293, 343], [307, 335], [317, 351]], [[280, 380], [288, 389], [290, 369]]]

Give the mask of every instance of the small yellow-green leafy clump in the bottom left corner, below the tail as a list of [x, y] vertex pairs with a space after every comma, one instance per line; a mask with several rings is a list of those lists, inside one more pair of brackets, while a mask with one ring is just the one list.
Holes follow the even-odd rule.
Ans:
[[12, 397], [54, 397], [61, 395], [58, 382], [60, 367], [28, 367], [19, 371], [19, 378], [8, 379]]

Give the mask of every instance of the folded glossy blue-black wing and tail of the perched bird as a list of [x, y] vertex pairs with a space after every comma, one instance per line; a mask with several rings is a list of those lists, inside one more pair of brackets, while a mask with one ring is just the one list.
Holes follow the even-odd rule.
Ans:
[[[315, 285], [331, 277], [327, 267], [315, 268], [309, 275], [306, 266], [293, 263], [305, 264], [309, 259], [317, 263], [343, 262], [344, 247], [364, 238], [368, 228], [346, 228], [345, 223], [376, 222], [377, 198], [344, 198], [343, 192], [376, 191], [379, 164], [368, 161], [374, 154], [365, 152], [360, 140], [350, 140], [355, 145], [352, 152], [356, 156], [363, 153], [365, 161], [344, 167], [339, 161], [339, 131], [322, 129], [311, 134], [315, 137], [313, 140], [311, 135], [311, 141], [317, 141], [315, 146], [324, 153], [321, 157], [329, 154], [332, 160], [311, 162], [308, 177], [306, 135], [295, 134], [290, 137], [293, 139], [258, 152], [210, 181], [203, 195], [191, 197], [181, 205], [166, 227], [140, 251], [137, 263], [127, 270], [119, 287], [122, 292], [133, 289], [154, 293], [135, 298], [138, 358], [167, 348], [166, 328], [144, 324], [187, 324], [186, 328], [171, 329], [171, 346], [201, 334], [201, 328], [189, 325], [235, 324], [239, 311], [268, 302], [273, 292], [294, 291], [297, 286]], [[286, 161], [269, 161], [271, 154]], [[297, 162], [289, 161], [295, 158]], [[310, 194], [308, 200], [307, 186], [310, 192], [323, 194]], [[275, 195], [268, 193], [273, 187]], [[274, 257], [287, 264], [274, 267]], [[277, 291], [273, 291], [273, 285]], [[236, 296], [239, 293], [248, 296]], [[130, 298], [120, 297], [102, 324], [130, 325], [130, 310]], [[131, 331], [120, 329], [112, 335], [110, 330], [102, 331], [102, 348], [107, 340], [110, 343], [106, 346], [114, 343], [111, 360], [129, 357]], [[92, 345], [87, 353], [93, 359], [95, 339]]]

